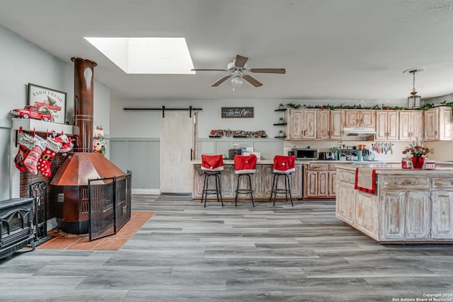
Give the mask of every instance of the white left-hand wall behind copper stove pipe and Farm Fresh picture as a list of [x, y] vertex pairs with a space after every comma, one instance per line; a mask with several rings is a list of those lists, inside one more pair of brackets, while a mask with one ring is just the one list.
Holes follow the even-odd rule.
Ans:
[[[74, 120], [74, 66], [53, 57], [48, 52], [11, 33], [0, 26], [0, 200], [11, 198], [11, 178], [18, 173], [10, 172], [11, 116], [13, 108], [27, 104], [27, 85], [33, 83], [67, 93], [67, 120]], [[89, 59], [89, 58], [87, 58]], [[95, 69], [96, 79], [96, 69]], [[109, 133], [110, 89], [94, 83], [94, 121]], [[16, 172], [16, 171], [15, 171]]]

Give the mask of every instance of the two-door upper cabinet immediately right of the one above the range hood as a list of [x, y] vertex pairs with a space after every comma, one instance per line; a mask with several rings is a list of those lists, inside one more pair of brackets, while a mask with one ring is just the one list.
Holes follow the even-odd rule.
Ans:
[[395, 110], [376, 111], [376, 137], [377, 141], [397, 141], [399, 127], [399, 113]]

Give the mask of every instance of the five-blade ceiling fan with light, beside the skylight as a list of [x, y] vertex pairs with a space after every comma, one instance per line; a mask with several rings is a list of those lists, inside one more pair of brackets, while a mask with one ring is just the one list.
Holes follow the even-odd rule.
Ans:
[[260, 83], [257, 79], [253, 78], [250, 73], [255, 74], [285, 74], [286, 70], [284, 68], [251, 68], [248, 69], [246, 62], [248, 57], [243, 57], [241, 55], [236, 55], [236, 58], [233, 59], [233, 62], [230, 62], [226, 69], [200, 69], [195, 68], [192, 71], [229, 71], [229, 74], [222, 76], [219, 80], [211, 84], [211, 86], [219, 86], [221, 83], [231, 78], [231, 84], [233, 87], [240, 86], [242, 84], [242, 79], [248, 81], [255, 87], [263, 86], [263, 83]]

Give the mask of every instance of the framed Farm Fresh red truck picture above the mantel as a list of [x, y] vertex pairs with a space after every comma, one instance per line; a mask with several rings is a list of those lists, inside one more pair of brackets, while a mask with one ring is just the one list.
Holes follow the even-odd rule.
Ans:
[[64, 124], [66, 120], [66, 95], [63, 91], [28, 83], [28, 105], [37, 106], [40, 112], [52, 115], [52, 122]]

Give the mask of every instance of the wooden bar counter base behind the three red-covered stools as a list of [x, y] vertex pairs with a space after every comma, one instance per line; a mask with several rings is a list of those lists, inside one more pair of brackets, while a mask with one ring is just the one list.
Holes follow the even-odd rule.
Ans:
[[[205, 175], [202, 173], [200, 161], [193, 161], [193, 199], [201, 199]], [[290, 185], [293, 199], [302, 198], [302, 163], [296, 163], [296, 170], [291, 173]], [[251, 176], [253, 186], [253, 199], [269, 200], [273, 182], [273, 161], [261, 161], [256, 165], [256, 173]], [[247, 181], [248, 182], [248, 181]], [[247, 187], [246, 178], [241, 178], [240, 187]], [[224, 200], [233, 200], [236, 197], [237, 175], [234, 173], [234, 162], [224, 161], [224, 170], [220, 175], [220, 186]], [[280, 178], [279, 188], [284, 186], [283, 178]], [[214, 187], [214, 182], [210, 182]], [[241, 200], [251, 199], [250, 194], [239, 194]], [[215, 194], [208, 195], [208, 200], [217, 200]], [[284, 194], [277, 194], [277, 199], [285, 199]]]

